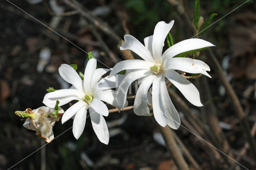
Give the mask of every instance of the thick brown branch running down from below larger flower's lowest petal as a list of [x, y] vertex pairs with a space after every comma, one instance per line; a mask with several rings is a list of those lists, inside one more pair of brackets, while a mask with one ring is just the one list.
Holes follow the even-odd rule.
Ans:
[[166, 146], [169, 149], [170, 153], [172, 154], [172, 157], [173, 157], [174, 162], [175, 162], [176, 166], [178, 167], [178, 169], [189, 170], [188, 164], [184, 160], [184, 158], [180, 152], [180, 149], [178, 148], [178, 145], [175, 142], [172, 129], [168, 126], [162, 127], [159, 125], [159, 127], [160, 127], [161, 132], [166, 141]]

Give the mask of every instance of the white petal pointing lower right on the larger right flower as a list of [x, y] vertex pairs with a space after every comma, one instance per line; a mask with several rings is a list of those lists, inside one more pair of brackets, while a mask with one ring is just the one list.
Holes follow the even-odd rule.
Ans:
[[199, 91], [196, 87], [174, 70], [164, 72], [164, 76], [175, 85], [184, 97], [195, 106], [203, 106], [200, 101]]

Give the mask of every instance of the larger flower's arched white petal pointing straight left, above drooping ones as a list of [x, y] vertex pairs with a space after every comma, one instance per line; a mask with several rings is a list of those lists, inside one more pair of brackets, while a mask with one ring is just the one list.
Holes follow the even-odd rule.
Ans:
[[142, 59], [128, 59], [128, 60], [120, 61], [113, 67], [109, 76], [115, 75], [120, 71], [126, 70], [126, 69], [150, 69], [152, 65], [154, 64], [144, 61]]

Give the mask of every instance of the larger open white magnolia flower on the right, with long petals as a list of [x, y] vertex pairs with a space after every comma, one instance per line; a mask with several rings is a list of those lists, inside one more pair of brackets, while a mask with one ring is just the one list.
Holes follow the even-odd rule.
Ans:
[[129, 71], [117, 91], [118, 96], [116, 100], [122, 106], [124, 106], [130, 84], [136, 79], [140, 79], [142, 83], [138, 88], [134, 101], [134, 113], [140, 116], [149, 115], [148, 103], [146, 101], [150, 102], [151, 100], [147, 100], [147, 96], [148, 89], [153, 84], [152, 106], [156, 121], [162, 127], [168, 125], [171, 128], [177, 129], [180, 126], [180, 117], [168, 95], [164, 77], [175, 85], [190, 103], [202, 106], [196, 87], [174, 70], [181, 70], [187, 73], [201, 73], [210, 77], [206, 72], [210, 71], [210, 67], [197, 59], [174, 56], [214, 45], [198, 38], [188, 39], [172, 45], [162, 54], [164, 40], [173, 24], [173, 20], [169, 24], [163, 21], [158, 22], [154, 35], [144, 39], [145, 46], [133, 36], [125, 35], [124, 44], [120, 49], [130, 49], [144, 60], [129, 59], [121, 61], [113, 67], [110, 76], [122, 70]]

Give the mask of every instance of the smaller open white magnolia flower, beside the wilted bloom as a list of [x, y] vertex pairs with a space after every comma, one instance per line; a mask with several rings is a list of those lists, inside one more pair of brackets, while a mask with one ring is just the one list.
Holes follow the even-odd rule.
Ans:
[[84, 81], [82, 81], [70, 65], [62, 64], [59, 68], [60, 76], [73, 86], [70, 89], [50, 92], [44, 97], [43, 103], [49, 107], [54, 107], [56, 100], [60, 101], [59, 106], [72, 100], [78, 100], [77, 103], [66, 110], [61, 120], [63, 124], [75, 115], [72, 130], [76, 139], [81, 136], [84, 130], [87, 109], [89, 109], [94, 132], [100, 142], [108, 144], [108, 127], [103, 117], [108, 116], [108, 108], [102, 101], [118, 106], [115, 100], [116, 91], [111, 90], [111, 88], [118, 86], [116, 79], [121, 82], [122, 77], [124, 77], [124, 75], [117, 75], [113, 78], [105, 77], [100, 80], [102, 75], [108, 71], [109, 69], [96, 69], [96, 59], [92, 58], [87, 63], [84, 71]]

